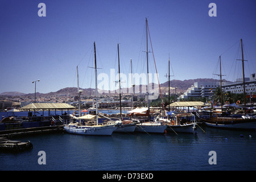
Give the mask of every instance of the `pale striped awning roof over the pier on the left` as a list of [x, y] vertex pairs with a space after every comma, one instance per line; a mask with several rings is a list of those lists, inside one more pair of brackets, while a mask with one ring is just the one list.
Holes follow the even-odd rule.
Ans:
[[76, 107], [66, 103], [32, 103], [20, 109], [76, 109]]

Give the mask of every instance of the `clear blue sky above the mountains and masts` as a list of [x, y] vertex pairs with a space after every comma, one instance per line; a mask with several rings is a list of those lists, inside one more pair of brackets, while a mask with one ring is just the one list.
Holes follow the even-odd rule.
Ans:
[[[39, 3], [46, 17], [39, 17]], [[209, 3], [217, 16], [210, 17]], [[224, 79], [241, 77], [240, 39], [243, 39], [246, 76], [256, 72], [256, 1], [36, 1], [1, 0], [0, 63], [2, 92], [56, 92], [77, 86], [94, 88], [93, 42], [96, 42], [99, 73], [117, 71], [117, 43], [121, 72], [146, 72], [145, 19], [148, 19], [160, 83], [166, 82], [168, 59], [174, 77], [213, 76], [222, 58]], [[150, 43], [150, 42], [149, 42]], [[152, 49], [150, 48], [150, 51]], [[150, 72], [155, 72], [150, 55]], [[240, 57], [239, 57], [240, 56]], [[237, 63], [238, 62], [238, 63]], [[234, 70], [233, 70], [234, 69]]]

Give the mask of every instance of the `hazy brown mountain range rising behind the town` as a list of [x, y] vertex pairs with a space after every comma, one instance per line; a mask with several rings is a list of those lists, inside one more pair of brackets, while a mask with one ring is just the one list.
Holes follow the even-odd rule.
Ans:
[[[212, 78], [197, 78], [197, 79], [189, 79], [189, 80], [171, 80], [170, 81], [170, 92], [175, 93], [176, 92], [185, 92], [188, 88], [191, 87], [191, 85], [194, 84], [194, 82], [218, 82], [220, 80], [212, 79]], [[135, 90], [141, 88], [142, 85], [135, 86]], [[168, 81], [164, 82], [163, 84], [160, 84], [160, 88], [162, 90], [162, 93], [168, 92]], [[124, 88], [128, 89], [128, 88]], [[81, 89], [82, 95], [84, 96], [90, 96], [93, 95], [94, 90], [92, 88], [87, 89]], [[106, 92], [105, 92], [106, 93]], [[119, 89], [115, 90], [115, 94], [119, 93]], [[127, 92], [128, 93], [128, 92]], [[35, 93], [20, 93], [20, 92], [3, 92], [0, 94], [0, 96], [34, 96]], [[46, 96], [67, 96], [67, 95], [76, 95], [77, 94], [77, 88], [76, 87], [67, 87], [58, 90], [57, 92], [49, 92], [49, 93], [36, 93], [37, 97], [46, 97]]]

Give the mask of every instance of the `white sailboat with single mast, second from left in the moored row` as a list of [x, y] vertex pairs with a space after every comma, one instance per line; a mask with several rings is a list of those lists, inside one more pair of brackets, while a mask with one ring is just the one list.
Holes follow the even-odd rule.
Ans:
[[[117, 44], [117, 49], [118, 49], [118, 73], [119, 73], [119, 81], [118, 82], [119, 82], [120, 118], [119, 118], [119, 121], [115, 122], [115, 126], [117, 126], [117, 129], [114, 130], [114, 132], [131, 133], [131, 132], [134, 132], [136, 123], [134, 123], [133, 121], [128, 120], [128, 119], [123, 120], [123, 117], [122, 117], [119, 44]], [[111, 123], [111, 122], [108, 122], [108, 123]]]

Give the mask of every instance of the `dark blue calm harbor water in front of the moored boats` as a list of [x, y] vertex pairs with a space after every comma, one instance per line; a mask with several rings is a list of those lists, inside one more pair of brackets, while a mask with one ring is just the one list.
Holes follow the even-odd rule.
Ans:
[[[14, 139], [30, 140], [34, 148], [18, 154], [0, 152], [0, 170], [256, 170], [255, 131], [203, 129], [206, 133], [197, 127], [197, 135], [53, 133], [18, 137]], [[39, 151], [46, 152], [46, 164], [38, 163]], [[210, 151], [216, 152], [217, 164], [209, 164]]]

